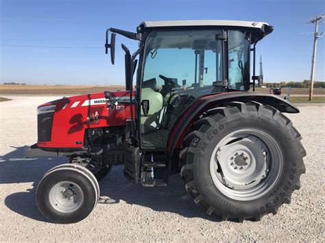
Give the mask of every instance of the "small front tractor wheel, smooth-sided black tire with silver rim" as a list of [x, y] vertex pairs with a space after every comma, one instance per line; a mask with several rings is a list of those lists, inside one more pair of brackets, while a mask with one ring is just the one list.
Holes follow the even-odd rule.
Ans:
[[51, 222], [60, 224], [86, 218], [95, 208], [98, 197], [93, 179], [83, 170], [71, 168], [70, 164], [47, 172], [36, 189], [40, 212]]

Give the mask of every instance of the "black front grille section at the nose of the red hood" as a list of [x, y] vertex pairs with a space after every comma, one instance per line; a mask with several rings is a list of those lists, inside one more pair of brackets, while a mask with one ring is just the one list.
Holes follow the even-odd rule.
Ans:
[[38, 142], [51, 141], [54, 112], [39, 114], [37, 116]]

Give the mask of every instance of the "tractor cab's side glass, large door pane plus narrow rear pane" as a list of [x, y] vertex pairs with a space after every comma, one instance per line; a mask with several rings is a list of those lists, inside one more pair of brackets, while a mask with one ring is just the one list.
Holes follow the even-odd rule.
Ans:
[[[232, 38], [228, 40], [229, 88], [244, 90], [248, 38], [245, 32], [228, 32]], [[213, 85], [227, 78], [225, 47], [220, 36], [221, 29], [153, 31], [149, 34], [141, 84], [141, 101], [149, 101], [148, 113], [146, 116], [141, 113], [143, 148], [165, 148], [174, 123], [193, 99], [223, 91]]]

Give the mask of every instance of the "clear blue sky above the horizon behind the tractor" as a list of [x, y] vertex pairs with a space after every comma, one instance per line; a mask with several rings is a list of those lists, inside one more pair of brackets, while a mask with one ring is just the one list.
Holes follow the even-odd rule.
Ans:
[[[258, 56], [263, 57], [265, 81], [302, 81], [310, 76], [313, 36], [301, 33], [314, 30], [314, 25], [304, 21], [325, 12], [324, 0], [0, 2], [0, 83], [27, 84], [123, 84], [121, 42], [132, 51], [137, 43], [117, 36], [116, 62], [112, 66], [109, 55], [104, 54], [106, 29], [136, 31], [143, 21], [184, 19], [264, 21], [274, 25], [274, 32], [257, 45]], [[324, 26], [320, 25], [320, 32], [325, 31]], [[325, 81], [324, 53], [324, 38], [319, 38], [317, 81]]]

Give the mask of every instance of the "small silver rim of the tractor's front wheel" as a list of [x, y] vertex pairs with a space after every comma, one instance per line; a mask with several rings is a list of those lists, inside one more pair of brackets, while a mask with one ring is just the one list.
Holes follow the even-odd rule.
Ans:
[[84, 194], [81, 188], [71, 181], [56, 183], [49, 192], [49, 203], [58, 212], [75, 212], [83, 201]]

